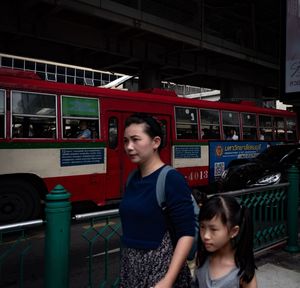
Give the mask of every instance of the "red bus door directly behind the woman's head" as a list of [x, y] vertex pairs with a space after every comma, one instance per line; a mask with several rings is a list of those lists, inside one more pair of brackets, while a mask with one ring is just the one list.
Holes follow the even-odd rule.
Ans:
[[[107, 114], [107, 199], [122, 197], [127, 176], [136, 168], [136, 165], [127, 157], [123, 145], [125, 119], [132, 113], [111, 111]], [[165, 163], [171, 164], [170, 118], [155, 116], [161, 121], [164, 132], [163, 149], [160, 155]]]

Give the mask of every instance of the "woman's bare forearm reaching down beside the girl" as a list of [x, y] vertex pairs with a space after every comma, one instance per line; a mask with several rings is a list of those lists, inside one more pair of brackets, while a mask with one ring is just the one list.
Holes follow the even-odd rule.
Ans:
[[186, 258], [192, 248], [194, 237], [183, 236], [179, 238], [168, 272], [165, 277], [162, 278], [154, 288], [172, 288], [176, 278], [184, 265]]

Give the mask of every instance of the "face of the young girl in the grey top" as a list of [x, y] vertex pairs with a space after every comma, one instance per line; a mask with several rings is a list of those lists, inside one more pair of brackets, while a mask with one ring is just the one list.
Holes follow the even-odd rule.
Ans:
[[220, 219], [215, 216], [211, 220], [200, 222], [200, 237], [208, 252], [215, 252], [230, 244], [230, 239], [238, 234], [238, 226], [228, 229]]

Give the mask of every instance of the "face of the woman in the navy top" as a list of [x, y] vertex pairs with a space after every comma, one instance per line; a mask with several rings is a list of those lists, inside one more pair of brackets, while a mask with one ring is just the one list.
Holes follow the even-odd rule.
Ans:
[[124, 131], [124, 148], [130, 160], [136, 164], [143, 164], [149, 160], [160, 144], [160, 138], [151, 138], [145, 133], [145, 125], [131, 124]]

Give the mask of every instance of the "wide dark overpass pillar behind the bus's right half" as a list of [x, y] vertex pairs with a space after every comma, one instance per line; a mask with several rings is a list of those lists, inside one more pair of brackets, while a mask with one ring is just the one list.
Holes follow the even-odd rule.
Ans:
[[221, 81], [221, 101], [240, 102], [243, 100], [253, 101], [258, 106], [262, 106], [262, 88], [240, 81]]

